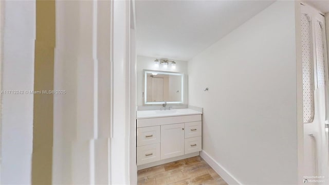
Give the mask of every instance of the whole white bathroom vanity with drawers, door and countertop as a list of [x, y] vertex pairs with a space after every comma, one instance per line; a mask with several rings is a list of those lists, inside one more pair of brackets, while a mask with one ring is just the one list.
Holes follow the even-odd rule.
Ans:
[[202, 111], [137, 111], [136, 134], [138, 170], [197, 156], [202, 149]]

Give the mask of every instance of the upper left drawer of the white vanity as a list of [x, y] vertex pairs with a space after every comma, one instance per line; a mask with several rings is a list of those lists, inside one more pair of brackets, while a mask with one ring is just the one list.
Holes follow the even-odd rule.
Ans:
[[160, 126], [137, 128], [137, 146], [160, 142]]

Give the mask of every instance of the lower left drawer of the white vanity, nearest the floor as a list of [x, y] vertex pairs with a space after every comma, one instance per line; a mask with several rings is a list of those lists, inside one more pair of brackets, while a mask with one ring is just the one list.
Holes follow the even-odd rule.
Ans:
[[137, 165], [160, 160], [160, 143], [137, 147]]

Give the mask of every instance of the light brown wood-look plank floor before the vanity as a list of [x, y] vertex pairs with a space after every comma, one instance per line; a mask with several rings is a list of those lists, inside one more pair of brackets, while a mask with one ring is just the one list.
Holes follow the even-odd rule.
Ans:
[[139, 170], [138, 185], [144, 184], [218, 184], [227, 185], [200, 156]]

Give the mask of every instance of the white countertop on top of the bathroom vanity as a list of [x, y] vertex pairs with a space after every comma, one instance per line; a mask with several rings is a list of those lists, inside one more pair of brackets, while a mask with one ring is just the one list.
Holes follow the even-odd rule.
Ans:
[[202, 114], [202, 112], [198, 112], [190, 108], [179, 108], [179, 109], [171, 109], [171, 110], [138, 110], [137, 119], [200, 115], [200, 114]]

